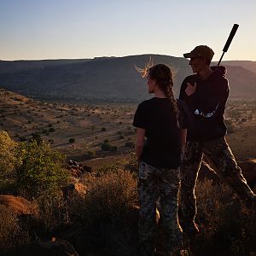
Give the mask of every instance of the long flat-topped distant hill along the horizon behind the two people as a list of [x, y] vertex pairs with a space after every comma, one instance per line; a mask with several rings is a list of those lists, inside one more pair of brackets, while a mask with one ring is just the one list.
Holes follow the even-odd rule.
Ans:
[[[191, 69], [188, 60], [169, 55], [131, 55], [89, 60], [0, 61], [0, 86], [25, 96], [46, 100], [138, 102], [148, 98], [148, 92], [146, 81], [137, 73], [135, 65], [144, 67], [150, 56], [154, 63], [166, 63], [173, 68], [177, 96], [180, 84], [191, 73]], [[223, 63], [236, 66], [228, 66], [230, 97], [256, 98], [256, 73], [252, 71], [255, 62]], [[246, 67], [250, 67], [250, 70]]]

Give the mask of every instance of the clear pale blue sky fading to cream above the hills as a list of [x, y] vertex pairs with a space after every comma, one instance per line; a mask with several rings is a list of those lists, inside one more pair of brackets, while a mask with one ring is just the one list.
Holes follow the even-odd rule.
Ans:
[[183, 57], [207, 44], [218, 61], [256, 61], [255, 0], [0, 0], [0, 60]]

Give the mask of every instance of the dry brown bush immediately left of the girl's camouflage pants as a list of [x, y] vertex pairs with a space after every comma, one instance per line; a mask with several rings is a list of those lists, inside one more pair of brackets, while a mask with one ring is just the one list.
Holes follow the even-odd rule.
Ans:
[[84, 209], [90, 221], [118, 218], [121, 212], [137, 202], [137, 181], [130, 172], [108, 172], [86, 186]]

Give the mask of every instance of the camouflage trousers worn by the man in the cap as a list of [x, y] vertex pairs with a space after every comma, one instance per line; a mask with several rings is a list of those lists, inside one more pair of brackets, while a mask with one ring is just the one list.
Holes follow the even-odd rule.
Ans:
[[195, 184], [203, 154], [214, 166], [218, 177], [230, 185], [241, 199], [255, 200], [253, 191], [237, 166], [234, 155], [224, 137], [207, 142], [188, 142], [181, 167], [181, 206], [183, 229], [194, 224], [196, 214]]

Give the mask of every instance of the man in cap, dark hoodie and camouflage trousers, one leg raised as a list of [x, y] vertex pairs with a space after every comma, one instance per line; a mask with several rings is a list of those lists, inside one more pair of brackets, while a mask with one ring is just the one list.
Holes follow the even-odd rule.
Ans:
[[227, 131], [224, 108], [230, 88], [224, 76], [225, 67], [210, 67], [213, 55], [213, 50], [207, 45], [196, 46], [184, 54], [185, 58], [190, 58], [189, 65], [195, 73], [183, 80], [179, 96], [187, 103], [193, 120], [188, 129], [181, 168], [183, 230], [189, 235], [199, 231], [195, 224], [195, 184], [203, 154], [215, 166], [218, 177], [237, 195], [247, 201], [256, 199], [224, 137]]

